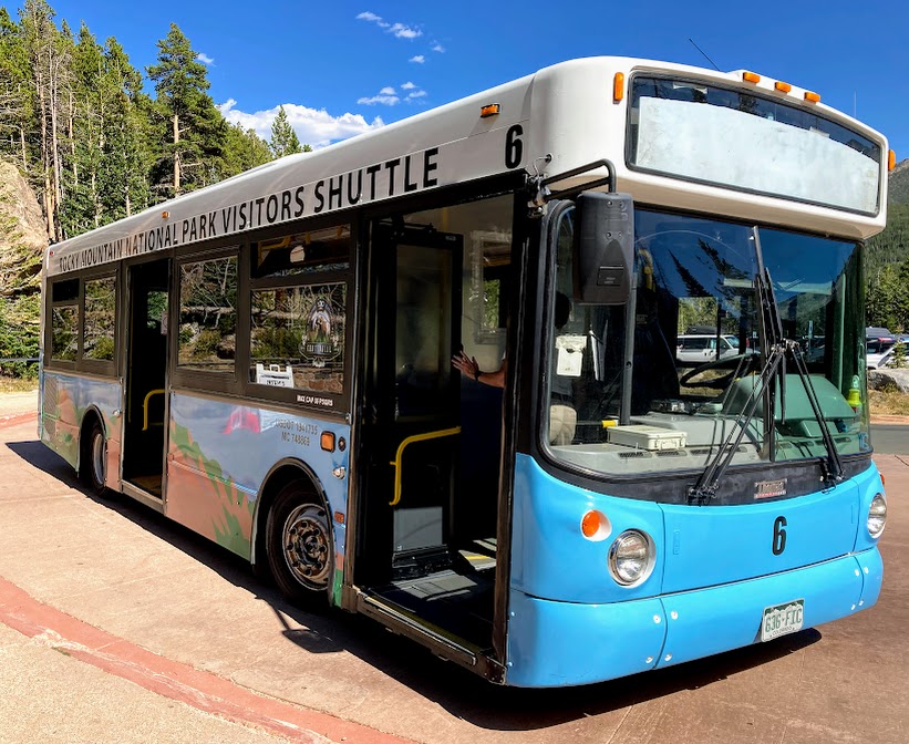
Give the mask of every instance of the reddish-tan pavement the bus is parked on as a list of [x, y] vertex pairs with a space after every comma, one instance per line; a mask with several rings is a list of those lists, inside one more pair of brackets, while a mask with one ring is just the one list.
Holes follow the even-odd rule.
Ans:
[[[127, 679], [180, 706], [198, 707], [197, 700], [210, 698], [254, 713], [259, 706], [262, 717], [246, 721], [238, 736], [268, 728], [266, 719], [299, 711], [300, 730], [268, 728], [278, 737], [269, 741], [326, 741], [303, 737], [318, 734], [366, 742], [374, 731], [400, 737], [376, 742], [427, 744], [903, 744], [909, 728], [909, 457], [878, 455], [876, 461], [889, 494], [881, 538], [885, 581], [876, 607], [659, 672], [578, 689], [525, 691], [495, 688], [363, 618], [313, 616], [288, 606], [217, 546], [138, 504], [89, 496], [69, 466], [35, 441], [34, 418], [11, 417], [0, 424], [0, 577], [7, 586], [0, 612], [13, 617], [17, 601], [38, 611], [44, 607], [48, 632], [61, 642], [68, 632], [96, 629], [105, 639], [99, 648], [111, 658], [121, 647], [131, 649], [135, 679], [124, 678], [115, 664], [102, 670], [120, 678], [117, 684]], [[82, 630], [73, 630], [66, 618], [82, 623]], [[0, 622], [0, 653], [12, 643], [11, 632]], [[87, 662], [76, 654], [66, 663]], [[145, 678], [138, 673], [143, 666], [151, 669]], [[168, 698], [174, 684], [151, 689], [143, 683], [172, 678], [185, 685], [183, 698]], [[209, 683], [227, 686], [213, 693], [205, 686]], [[237, 691], [250, 696], [237, 703], [231, 698]], [[277, 704], [286, 707], [269, 707]], [[47, 725], [54, 706], [42, 710], [41, 725]], [[65, 710], [70, 716], [97, 714]], [[230, 717], [217, 706], [208, 713]], [[242, 717], [234, 713], [231, 720]], [[20, 714], [0, 705], [0, 742], [27, 741], [3, 735], [13, 725], [11, 716], [18, 721]], [[353, 727], [344, 727], [349, 724]], [[117, 741], [96, 733], [92, 741]], [[225, 735], [219, 741], [247, 741]], [[202, 740], [162, 735], [157, 741]]]

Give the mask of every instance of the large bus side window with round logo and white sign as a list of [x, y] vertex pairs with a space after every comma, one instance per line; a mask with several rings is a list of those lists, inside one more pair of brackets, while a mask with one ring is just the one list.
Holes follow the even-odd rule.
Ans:
[[250, 392], [320, 407], [343, 395], [350, 250], [349, 225], [251, 245]]

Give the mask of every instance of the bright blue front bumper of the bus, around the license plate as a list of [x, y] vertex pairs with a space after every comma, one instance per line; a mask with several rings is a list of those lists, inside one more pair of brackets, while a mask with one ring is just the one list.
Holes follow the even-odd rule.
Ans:
[[611, 604], [510, 592], [506, 683], [549, 688], [601, 682], [748, 645], [763, 611], [805, 602], [803, 628], [877, 601], [877, 548], [760, 579]]

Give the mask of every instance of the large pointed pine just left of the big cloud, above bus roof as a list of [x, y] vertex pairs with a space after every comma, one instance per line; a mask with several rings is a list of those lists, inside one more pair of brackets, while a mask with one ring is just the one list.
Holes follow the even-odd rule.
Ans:
[[197, 61], [176, 23], [157, 45], [158, 64], [147, 72], [155, 84], [156, 110], [163, 120], [158, 122], [159, 131], [169, 131], [169, 136], [153, 178], [163, 195], [171, 197], [221, 177], [227, 126], [206, 93], [209, 83], [205, 65]]

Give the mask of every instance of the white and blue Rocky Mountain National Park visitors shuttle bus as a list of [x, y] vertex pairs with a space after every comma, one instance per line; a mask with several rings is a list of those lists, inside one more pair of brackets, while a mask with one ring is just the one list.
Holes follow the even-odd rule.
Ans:
[[772, 642], [880, 591], [892, 165], [784, 81], [557, 64], [50, 246], [40, 436], [496, 683]]

